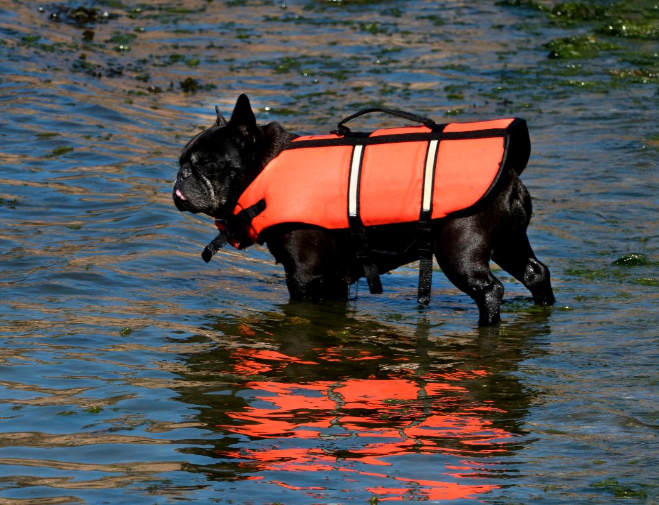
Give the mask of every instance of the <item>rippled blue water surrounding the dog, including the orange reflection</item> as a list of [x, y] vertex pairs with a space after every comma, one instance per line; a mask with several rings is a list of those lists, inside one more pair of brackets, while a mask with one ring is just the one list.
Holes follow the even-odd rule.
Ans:
[[[1, 1], [0, 503], [658, 503], [659, 9], [554, 3]], [[527, 119], [557, 305], [205, 265], [176, 157], [243, 92], [299, 133]]]

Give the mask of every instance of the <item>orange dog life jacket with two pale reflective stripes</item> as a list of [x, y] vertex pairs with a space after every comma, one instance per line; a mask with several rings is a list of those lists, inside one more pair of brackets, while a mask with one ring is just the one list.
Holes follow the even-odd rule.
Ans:
[[264, 200], [246, 228], [259, 243], [275, 224], [349, 228], [358, 216], [373, 226], [416, 222], [422, 211], [444, 218], [474, 207], [494, 187], [513, 128], [528, 139], [522, 119], [298, 137], [245, 189], [234, 214]]

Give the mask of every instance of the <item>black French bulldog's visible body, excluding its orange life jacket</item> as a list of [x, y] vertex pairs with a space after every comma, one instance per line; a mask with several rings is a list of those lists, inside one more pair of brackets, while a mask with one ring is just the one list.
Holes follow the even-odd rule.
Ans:
[[[241, 193], [259, 172], [297, 135], [277, 123], [257, 126], [246, 95], [238, 98], [230, 121], [217, 107], [216, 112], [216, 123], [183, 148], [173, 198], [179, 211], [205, 213], [221, 222], [231, 217]], [[527, 238], [531, 198], [518, 172], [521, 169], [506, 169], [497, 191], [472, 213], [432, 220], [430, 226], [430, 246], [441, 270], [476, 301], [482, 325], [500, 320], [504, 292], [490, 271], [490, 260], [522, 282], [535, 303], [554, 303], [549, 270], [536, 259]], [[367, 226], [365, 232], [370, 260], [379, 273], [419, 259], [416, 223]], [[365, 277], [363, 257], [347, 229], [279, 224], [267, 228], [259, 242], [284, 265], [293, 299], [346, 299], [349, 285]]]

